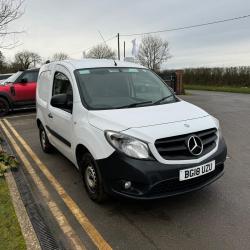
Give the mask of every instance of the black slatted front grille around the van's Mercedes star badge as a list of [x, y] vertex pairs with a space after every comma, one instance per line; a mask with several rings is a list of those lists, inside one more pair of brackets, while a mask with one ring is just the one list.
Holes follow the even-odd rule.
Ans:
[[[155, 141], [155, 147], [159, 154], [166, 160], [191, 160], [206, 155], [216, 147], [217, 129], [207, 129], [190, 134], [178, 135], [158, 139]], [[203, 152], [199, 156], [190, 153], [187, 142], [190, 136], [198, 136], [203, 143]]]

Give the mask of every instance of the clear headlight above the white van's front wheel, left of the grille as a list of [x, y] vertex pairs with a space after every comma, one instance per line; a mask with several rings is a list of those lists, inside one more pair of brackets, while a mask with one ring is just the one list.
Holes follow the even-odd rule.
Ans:
[[127, 156], [137, 159], [150, 158], [148, 145], [141, 140], [114, 131], [105, 131], [105, 137], [112, 147]]

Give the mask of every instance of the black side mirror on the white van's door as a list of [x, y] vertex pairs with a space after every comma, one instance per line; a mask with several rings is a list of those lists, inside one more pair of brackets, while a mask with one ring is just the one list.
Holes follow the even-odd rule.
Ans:
[[64, 109], [72, 113], [73, 96], [67, 94], [54, 95], [50, 101], [51, 106], [59, 109]]

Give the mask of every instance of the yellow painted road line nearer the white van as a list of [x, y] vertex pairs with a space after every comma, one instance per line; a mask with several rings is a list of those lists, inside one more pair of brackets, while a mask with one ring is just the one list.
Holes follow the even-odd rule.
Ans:
[[11, 132], [15, 135], [17, 140], [22, 144], [22, 146], [26, 149], [29, 153], [30, 157], [34, 160], [43, 174], [47, 177], [50, 181], [51, 185], [55, 188], [57, 193], [61, 196], [64, 203], [68, 207], [68, 209], [72, 212], [75, 216], [76, 220], [80, 223], [84, 231], [88, 234], [91, 238], [93, 243], [96, 245], [98, 249], [112, 249], [111, 246], [105, 241], [105, 239], [101, 236], [101, 234], [97, 231], [94, 225], [89, 221], [87, 216], [84, 212], [79, 208], [79, 206], [72, 200], [72, 198], [67, 194], [64, 188], [60, 185], [60, 183], [56, 180], [56, 178], [51, 174], [49, 169], [45, 164], [41, 162], [38, 156], [33, 152], [30, 146], [26, 143], [26, 141], [18, 134], [18, 132], [13, 128], [13, 126], [4, 119], [5, 124], [11, 130]]

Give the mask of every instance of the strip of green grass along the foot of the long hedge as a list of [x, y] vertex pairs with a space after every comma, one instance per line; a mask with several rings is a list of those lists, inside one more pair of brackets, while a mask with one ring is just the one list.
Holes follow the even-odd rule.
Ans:
[[208, 91], [221, 91], [221, 92], [250, 94], [250, 88], [248, 88], [248, 87], [206, 86], [206, 85], [185, 84], [184, 88], [186, 90], [193, 89], [193, 90], [208, 90]]

